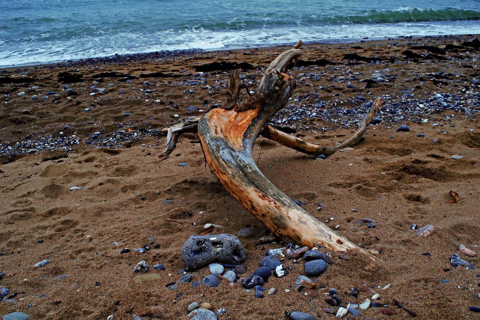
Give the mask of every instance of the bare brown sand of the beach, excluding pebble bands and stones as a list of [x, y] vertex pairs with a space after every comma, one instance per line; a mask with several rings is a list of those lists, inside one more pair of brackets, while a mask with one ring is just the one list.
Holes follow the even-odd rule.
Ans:
[[[453, 42], [443, 38], [427, 41], [440, 44]], [[382, 56], [395, 55], [405, 49], [387, 51], [386, 41], [369, 42], [364, 50], [347, 48], [355, 45], [365, 46], [364, 43], [340, 47], [337, 44], [309, 46], [312, 48], [303, 49], [304, 59], [311, 54], [319, 57], [316, 59], [339, 61], [347, 52]], [[132, 75], [180, 69], [194, 73], [192, 67], [199, 61], [208, 63], [219, 57], [265, 66], [273, 59], [270, 55], [283, 50], [285, 47], [254, 50], [254, 54], [250, 54], [250, 50], [210, 52], [194, 59], [180, 57], [175, 62], [169, 60], [163, 65], [144, 61], [135, 65], [96, 65], [96, 69], [83, 66], [87, 69], [82, 69], [82, 73], [86, 75], [84, 80], [87, 80], [87, 85], [90, 85], [95, 79], [90, 79], [88, 75], [112, 69]], [[475, 52], [469, 54], [476, 56]], [[421, 66], [433, 72], [445, 70], [449, 64], [452, 62], [432, 61], [426, 65], [412, 62], [395, 66], [385, 63], [380, 67], [361, 64], [354, 69], [365, 72], [387, 67], [415, 69]], [[57, 73], [75, 71], [75, 68], [40, 69], [36, 83], [46, 85], [41, 89], [43, 94], [47, 89], [61, 90], [56, 81]], [[458, 69], [459, 66], [452, 64], [451, 68]], [[468, 71], [473, 73], [478, 69], [474, 67]], [[318, 84], [329, 84], [324, 78]], [[401, 84], [401, 79], [399, 76], [398, 84]], [[144, 80], [149, 79], [138, 81]], [[171, 78], [161, 80], [177, 81]], [[131, 97], [124, 100], [116, 94], [124, 84], [116, 83], [114, 91], [108, 94], [108, 101], [103, 101], [103, 106], [97, 105], [89, 113], [82, 110], [90, 103], [76, 105], [62, 97], [57, 103], [35, 105], [40, 100], [16, 95], [25, 88], [3, 84], [4, 88], [0, 89], [12, 90], [11, 99], [15, 102], [3, 104], [6, 100], [3, 95], [0, 98], [0, 127], [6, 128], [1, 132], [1, 139], [3, 142], [7, 139], [17, 142], [31, 132], [60, 132], [59, 126], [68, 124], [84, 140], [100, 127], [106, 128], [104, 132], [118, 130], [114, 122], [127, 121], [121, 116], [125, 112], [133, 114], [132, 121], [143, 122], [153, 117], [154, 120], [148, 120], [149, 125], [161, 129], [170, 122], [171, 115], [198, 114], [196, 111], [187, 112], [189, 105], [198, 108], [203, 106], [205, 99], [210, 104], [226, 97], [225, 88], [221, 87], [221, 93], [214, 97], [198, 91], [198, 94], [183, 99], [186, 96], [182, 93], [186, 90], [184, 86], [177, 88], [162, 84], [158, 87], [162, 89], [158, 97], [167, 99], [163, 95], [169, 93], [168, 99], [176, 100], [180, 108], [145, 106], [144, 99]], [[424, 91], [446, 90], [446, 87], [438, 88], [433, 83], [426, 83], [423, 87]], [[401, 89], [399, 85], [388, 90], [391, 94], [399, 94]], [[294, 95], [305, 90], [305, 87], [299, 86]], [[383, 94], [387, 88], [383, 84], [370, 90], [376, 96]], [[73, 101], [84, 99], [81, 95], [73, 98]], [[327, 95], [325, 98], [329, 99]], [[92, 101], [89, 97], [85, 99]], [[116, 108], [119, 106], [120, 110]], [[33, 114], [22, 115], [18, 111], [22, 109], [29, 109]], [[448, 110], [444, 114], [452, 113], [455, 112]], [[101, 124], [80, 124], [94, 121], [93, 118]], [[27, 121], [25, 127], [20, 127], [20, 122]], [[405, 311], [393, 305], [392, 299], [414, 310], [418, 319], [477, 319], [478, 315], [469, 311], [468, 307], [480, 305], [480, 300], [474, 295], [480, 292], [477, 282], [480, 280], [477, 277], [479, 271], [456, 271], [450, 265], [448, 256], [457, 253], [461, 258], [472, 261], [476, 268], [480, 267], [477, 257], [469, 258], [457, 251], [460, 244], [479, 251], [479, 247], [475, 247], [480, 245], [480, 138], [476, 133], [480, 130], [479, 120], [475, 114], [466, 116], [458, 113], [448, 123], [450, 126], [442, 128], [432, 127], [430, 123], [405, 123], [410, 132], [396, 132], [396, 126], [387, 128], [387, 125], [377, 125], [373, 131], [370, 126], [365, 142], [356, 145], [354, 150], [333, 154], [327, 158], [329, 161], [314, 160], [312, 156], [261, 139], [257, 140], [253, 155], [255, 158], [259, 155], [263, 143], [258, 166], [270, 181], [291, 198], [305, 201], [307, 205], [303, 208], [319, 220], [334, 217], [328, 225], [333, 228], [339, 224], [338, 232], [354, 243], [365, 249], [380, 250], [380, 258], [384, 262], [379, 265], [372, 265], [370, 259], [360, 253], [348, 252], [348, 260], [340, 260], [338, 253], [334, 252], [334, 264], [318, 277], [319, 284], [336, 288], [345, 302], [361, 303], [372, 296], [360, 293], [358, 300], [346, 296], [344, 292], [349, 292], [352, 287], [360, 289], [364, 286], [362, 283], [374, 286], [373, 290], [381, 295], [379, 301], [388, 304], [387, 309], [398, 312], [398, 315], [388, 316], [379, 312], [383, 308], [371, 307], [362, 311], [363, 317], [357, 319], [410, 319]], [[36, 125], [37, 128], [34, 127]], [[474, 129], [474, 133], [466, 132], [470, 128]], [[441, 133], [439, 129], [446, 132]], [[348, 137], [351, 132], [341, 128], [324, 134], [306, 130], [302, 139], [331, 145], [337, 137]], [[418, 138], [418, 133], [431, 139]], [[434, 138], [441, 138], [442, 143], [433, 144]], [[51, 154], [42, 151], [36, 155], [16, 157], [0, 166], [3, 172], [0, 179], [0, 251], [4, 253], [0, 256], [0, 272], [6, 273], [0, 285], [9, 288], [11, 293], [19, 292], [13, 298], [18, 304], [0, 303], [0, 315], [20, 310], [30, 315], [30, 319], [104, 320], [110, 314], [115, 320], [131, 320], [133, 315], [143, 320], [184, 319], [187, 306], [197, 301], [209, 302], [214, 310], [225, 308], [227, 314], [218, 319], [284, 319], [286, 310], [318, 314], [322, 319], [333, 317], [322, 310], [328, 307], [324, 302], [325, 290], [296, 290], [295, 278], [304, 274], [303, 263], [293, 265], [291, 261], [285, 262], [288, 267], [293, 265], [287, 277], [271, 277], [264, 285], [267, 289], [276, 287], [277, 292], [263, 299], [255, 298], [252, 292], [245, 292], [240, 285], [236, 289], [230, 288], [227, 280], [221, 281], [216, 288], [200, 284], [192, 289], [190, 284], [180, 284], [176, 290], [168, 291], [165, 285], [178, 280], [180, 275], [177, 272], [184, 268], [181, 246], [190, 235], [201, 232], [204, 224], [223, 225], [211, 234], [237, 234], [247, 225], [260, 230], [261, 236], [267, 234], [264, 225], [224, 190], [208, 166], [205, 168], [200, 145], [190, 143], [195, 140], [198, 140], [195, 135], [182, 137], [177, 150], [163, 162], [158, 161], [157, 155], [164, 148], [164, 138], [150, 137], [117, 149], [96, 148], [82, 143], [73, 147], [74, 153], [62, 158], [62, 162], [42, 161]], [[454, 160], [451, 158], [453, 154], [461, 154], [464, 158]], [[188, 166], [180, 167], [180, 162], [186, 162]], [[83, 187], [83, 190], [69, 191], [72, 186]], [[457, 203], [448, 202], [452, 199], [450, 190], [459, 194]], [[160, 203], [167, 199], [175, 201]], [[321, 201], [324, 202], [323, 209], [317, 211], [316, 203]], [[376, 220], [377, 227], [355, 226], [354, 222], [363, 217]], [[165, 219], [179, 223], [166, 222]], [[410, 229], [412, 224], [434, 225], [435, 232], [429, 237], [417, 237], [416, 231]], [[353, 230], [350, 229], [352, 226], [355, 226]], [[142, 247], [150, 241], [149, 237], [156, 237], [159, 249], [151, 246], [145, 254], [135, 251], [120, 254], [120, 250], [126, 247]], [[43, 239], [43, 242], [38, 243], [38, 239]], [[255, 239], [240, 238], [247, 251], [245, 265], [249, 274], [258, 267], [266, 249], [280, 247], [279, 244], [254, 247]], [[114, 245], [114, 241], [119, 245]], [[431, 256], [421, 255], [425, 252]], [[33, 267], [44, 259], [49, 259], [50, 263]], [[133, 266], [141, 260], [150, 265], [163, 263], [167, 271], [150, 268], [146, 274], [132, 274]], [[445, 272], [445, 268], [451, 271]], [[194, 271], [193, 280], [202, 280], [207, 274], [208, 268]], [[66, 278], [55, 279], [60, 275], [66, 275]], [[442, 284], [444, 279], [453, 281]], [[382, 290], [386, 284], [391, 285]], [[286, 293], [285, 289], [290, 292]], [[183, 295], [178, 296], [180, 293]], [[46, 296], [39, 298], [40, 294]], [[116, 301], [120, 302], [116, 305]], [[32, 303], [33, 306], [27, 308]]]

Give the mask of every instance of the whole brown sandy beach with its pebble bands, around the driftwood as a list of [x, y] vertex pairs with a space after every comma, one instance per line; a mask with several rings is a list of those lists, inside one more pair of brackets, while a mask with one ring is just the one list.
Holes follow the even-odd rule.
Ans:
[[[324, 160], [262, 137], [253, 157], [288, 197], [304, 201], [302, 208], [331, 228], [339, 225], [337, 232], [359, 247], [378, 249], [382, 262], [359, 252], [342, 253], [342, 259], [332, 252], [333, 264], [313, 277], [316, 287], [299, 291], [295, 279], [304, 275], [304, 261], [285, 258], [289, 274], [270, 277], [264, 287], [276, 293], [264, 298], [225, 279], [215, 288], [181, 283], [168, 290], [184, 273], [183, 243], [205, 224], [222, 226], [209, 235], [259, 231], [238, 236], [246, 250], [245, 276], [266, 250], [285, 244], [254, 246], [268, 229], [211, 173], [196, 134], [182, 135], [167, 160], [158, 155], [165, 149], [163, 129], [177, 117], [225, 104], [228, 70], [242, 69], [254, 90], [263, 68], [289, 47], [159, 51], [0, 70], [0, 285], [14, 301], [0, 302], [0, 316], [21, 311], [39, 320], [188, 319], [187, 307], [196, 301], [210, 303], [212, 311], [225, 309], [220, 320], [288, 319], [286, 311], [333, 319], [323, 308], [330, 307], [325, 293], [336, 288], [344, 303], [360, 304], [379, 293], [378, 302], [387, 305], [361, 310], [355, 319], [410, 319], [393, 299], [417, 319], [477, 319], [468, 308], [480, 306], [478, 256], [458, 250], [480, 246], [477, 38], [301, 47], [290, 70], [298, 86], [273, 125], [334, 145], [353, 134], [365, 104], [382, 96], [378, 122], [353, 149]], [[409, 131], [397, 131], [402, 124]], [[450, 190], [459, 196], [456, 203], [449, 202]], [[376, 227], [357, 225], [362, 218], [375, 220]], [[417, 237], [414, 224], [435, 231]], [[145, 245], [145, 253], [134, 250]], [[125, 248], [130, 252], [120, 253]], [[449, 257], [455, 253], [475, 270], [453, 267]], [[142, 260], [166, 270], [132, 273]], [[210, 274], [208, 267], [188, 272], [192, 281]], [[371, 291], [358, 298], [346, 294], [365, 287]]]

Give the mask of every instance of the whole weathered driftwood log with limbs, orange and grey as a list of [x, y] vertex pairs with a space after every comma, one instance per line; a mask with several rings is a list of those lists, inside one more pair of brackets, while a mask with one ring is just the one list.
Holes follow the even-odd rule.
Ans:
[[280, 54], [264, 71], [256, 93], [246, 98], [241, 98], [244, 86], [240, 72], [231, 71], [228, 85], [230, 96], [226, 106], [212, 109], [203, 116], [186, 117], [181, 123], [168, 128], [167, 148], [159, 157], [162, 160], [168, 158], [181, 133], [197, 132], [212, 172], [228, 193], [260, 219], [274, 235], [285, 242], [309, 248], [326, 247], [336, 251], [358, 249], [368, 254], [291, 201], [264, 177], [252, 158], [253, 143], [260, 134], [312, 155], [329, 155], [352, 146], [359, 142], [375, 111], [383, 103], [380, 98], [375, 101], [356, 133], [341, 146], [318, 146], [265, 125], [270, 117], [284, 107], [296, 87], [295, 78], [288, 74], [288, 68], [300, 57], [300, 45]]

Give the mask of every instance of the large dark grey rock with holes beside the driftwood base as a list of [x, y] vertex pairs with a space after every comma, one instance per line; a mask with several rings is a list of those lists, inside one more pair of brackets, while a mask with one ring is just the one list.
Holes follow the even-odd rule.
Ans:
[[245, 261], [245, 249], [237, 237], [228, 233], [193, 235], [183, 244], [181, 257], [187, 267], [194, 269], [216, 261], [236, 265]]

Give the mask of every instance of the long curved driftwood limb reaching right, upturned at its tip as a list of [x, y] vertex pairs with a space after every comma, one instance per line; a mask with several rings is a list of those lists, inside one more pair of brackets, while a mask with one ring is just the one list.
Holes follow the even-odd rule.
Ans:
[[288, 148], [292, 148], [304, 154], [311, 154], [311, 155], [324, 154], [325, 156], [328, 156], [338, 150], [348, 148], [357, 144], [360, 141], [363, 134], [365, 133], [365, 131], [367, 130], [367, 126], [370, 123], [370, 120], [372, 120], [373, 115], [375, 114], [375, 111], [377, 111], [383, 105], [383, 103], [384, 101], [382, 100], [382, 98], [378, 97], [373, 103], [372, 107], [370, 107], [369, 111], [367, 112], [367, 115], [360, 122], [359, 129], [355, 132], [355, 134], [338, 146], [322, 147], [316, 144], [308, 143], [297, 137], [291, 136], [288, 133], [285, 133], [280, 130], [276, 130], [272, 126], [267, 126], [267, 127], [264, 126], [264, 128], [260, 131], [260, 134], [267, 139], [283, 144]]

